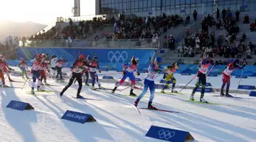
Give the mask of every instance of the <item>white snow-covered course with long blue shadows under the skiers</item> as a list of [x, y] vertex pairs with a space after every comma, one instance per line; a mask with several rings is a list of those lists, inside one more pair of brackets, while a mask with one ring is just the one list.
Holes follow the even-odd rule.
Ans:
[[[15, 68], [15, 67], [14, 67]], [[15, 68], [16, 69], [16, 68]], [[18, 69], [16, 69], [18, 70]], [[100, 74], [112, 74], [114, 78], [122, 77], [122, 74], [114, 75], [114, 71]], [[101, 77], [102, 75], [100, 75]], [[193, 75], [174, 75], [177, 84], [186, 84]], [[144, 75], [140, 76], [142, 79]], [[162, 75], [158, 78], [161, 80]], [[24, 81], [21, 77], [11, 77], [13, 80]], [[221, 77], [207, 77], [214, 88], [220, 88]], [[231, 89], [236, 89], [240, 79], [233, 77]], [[253, 85], [256, 78], [242, 79], [240, 84]], [[159, 82], [159, 81], [157, 81]], [[78, 84], [73, 84], [62, 98], [58, 96], [65, 84], [48, 80], [49, 84], [59, 86], [46, 87], [54, 92], [36, 92], [38, 95], [28, 94], [31, 89], [28, 84], [24, 89], [2, 88], [0, 89], [0, 140], [1, 141], [161, 141], [146, 137], [146, 132], [151, 125], [163, 126], [170, 129], [189, 131], [196, 141], [241, 142], [255, 141], [256, 139], [256, 100], [248, 94], [237, 94], [243, 99], [213, 97], [219, 92], [206, 93], [205, 99], [222, 105], [196, 104], [186, 102], [192, 92], [191, 89], [183, 89], [181, 94], [160, 94], [156, 89], [154, 105], [159, 109], [178, 111], [179, 114], [162, 111], [149, 111], [140, 109], [139, 114], [131, 104], [136, 97], [115, 97], [107, 93], [110, 90], [92, 91], [90, 87], [83, 86], [81, 95], [90, 99], [74, 99]], [[191, 86], [196, 80], [191, 82]], [[21, 82], [6, 82], [15, 87], [22, 87]], [[103, 87], [112, 88], [114, 83], [102, 82]], [[97, 87], [97, 85], [96, 85]], [[123, 89], [124, 87], [119, 87]], [[179, 90], [179, 89], [177, 89]], [[139, 89], [136, 94], [142, 92]], [[129, 94], [129, 89], [118, 94]], [[199, 100], [200, 93], [196, 93], [195, 99]], [[139, 107], [147, 107], [149, 92], [139, 102]], [[17, 111], [6, 108], [11, 100], [30, 103], [35, 109], [29, 111]], [[97, 121], [79, 124], [73, 121], [60, 119], [66, 110], [91, 114]]]

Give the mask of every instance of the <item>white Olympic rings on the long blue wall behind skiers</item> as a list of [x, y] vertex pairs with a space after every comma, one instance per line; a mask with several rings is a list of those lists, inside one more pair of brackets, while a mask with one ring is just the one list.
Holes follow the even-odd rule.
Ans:
[[107, 57], [111, 62], [113, 62], [113, 60], [115, 60], [115, 62], [119, 62], [120, 60], [122, 60], [122, 63], [124, 63], [124, 61], [128, 58], [128, 53], [126, 51], [123, 51], [122, 53], [120, 53], [119, 51], [115, 53], [110, 51], [107, 54]]

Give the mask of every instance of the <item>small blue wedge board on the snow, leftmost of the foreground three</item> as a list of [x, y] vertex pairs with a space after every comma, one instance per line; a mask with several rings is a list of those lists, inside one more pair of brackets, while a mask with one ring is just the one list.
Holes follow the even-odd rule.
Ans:
[[14, 101], [14, 100], [11, 100], [11, 102], [9, 102], [9, 104], [6, 107], [11, 109], [16, 109], [19, 111], [34, 109], [31, 106], [31, 104], [28, 104], [26, 102]]

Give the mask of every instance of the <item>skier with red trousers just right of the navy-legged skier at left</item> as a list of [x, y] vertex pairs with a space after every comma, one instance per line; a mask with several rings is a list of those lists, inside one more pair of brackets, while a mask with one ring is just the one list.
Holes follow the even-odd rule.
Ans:
[[50, 72], [50, 70], [48, 70], [48, 61], [46, 60], [47, 56], [44, 54], [42, 55], [43, 55], [43, 58], [41, 60], [41, 67], [40, 67], [41, 83], [44, 82], [46, 85], [49, 85], [46, 82], [47, 80], [46, 71]]

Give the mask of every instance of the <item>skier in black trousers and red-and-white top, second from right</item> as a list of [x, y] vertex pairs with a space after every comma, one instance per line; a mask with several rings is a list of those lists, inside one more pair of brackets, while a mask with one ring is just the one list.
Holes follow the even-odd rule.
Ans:
[[198, 89], [200, 84], [202, 84], [200, 102], [208, 103], [206, 101], [206, 99], [203, 99], [203, 96], [204, 96], [205, 89], [206, 89], [206, 74], [208, 72], [209, 67], [210, 67], [210, 58], [204, 58], [202, 60], [201, 64], [199, 65], [198, 74], [197, 74], [198, 82], [196, 82], [196, 87], [193, 89], [193, 92], [192, 92], [191, 97], [190, 97], [190, 99], [192, 101], [195, 100], [193, 98], [193, 95], [196, 93], [196, 90]]

